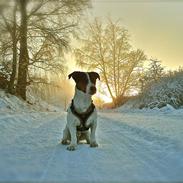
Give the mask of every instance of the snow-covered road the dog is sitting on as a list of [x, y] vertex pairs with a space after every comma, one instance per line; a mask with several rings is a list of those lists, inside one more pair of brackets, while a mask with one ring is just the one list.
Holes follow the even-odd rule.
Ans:
[[0, 114], [0, 182], [183, 182], [183, 113], [100, 112], [98, 148], [66, 150], [66, 113]]

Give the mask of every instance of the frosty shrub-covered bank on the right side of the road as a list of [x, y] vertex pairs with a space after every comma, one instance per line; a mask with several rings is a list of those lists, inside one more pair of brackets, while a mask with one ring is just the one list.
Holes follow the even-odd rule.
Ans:
[[129, 100], [124, 108], [159, 108], [174, 110], [183, 107], [183, 71], [149, 84], [144, 92]]

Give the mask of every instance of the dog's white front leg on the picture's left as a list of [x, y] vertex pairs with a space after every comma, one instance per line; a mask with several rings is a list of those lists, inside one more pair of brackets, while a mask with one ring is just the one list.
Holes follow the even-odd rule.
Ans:
[[76, 149], [76, 146], [77, 146], [76, 125], [70, 124], [69, 131], [70, 131], [70, 135], [71, 135], [71, 143], [67, 147], [67, 150], [74, 151]]

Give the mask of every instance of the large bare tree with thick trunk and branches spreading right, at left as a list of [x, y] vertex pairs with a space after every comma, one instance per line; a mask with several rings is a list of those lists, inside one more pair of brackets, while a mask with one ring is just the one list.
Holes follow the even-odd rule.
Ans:
[[[7, 10], [9, 7], [5, 5], [7, 3], [4, 3]], [[18, 66], [16, 93], [26, 99], [27, 85], [33, 82], [38, 72], [64, 72], [64, 52], [69, 48], [70, 37], [75, 33], [81, 12], [89, 7], [89, 0], [12, 0], [11, 7], [14, 8], [13, 17], [5, 18], [6, 11], [1, 16], [6, 29], [11, 27], [11, 36], [16, 38], [12, 38], [16, 50], [13, 51], [15, 59], [9, 91], [14, 86]], [[10, 38], [8, 41], [11, 47]], [[18, 65], [15, 64], [16, 59], [19, 60]]]

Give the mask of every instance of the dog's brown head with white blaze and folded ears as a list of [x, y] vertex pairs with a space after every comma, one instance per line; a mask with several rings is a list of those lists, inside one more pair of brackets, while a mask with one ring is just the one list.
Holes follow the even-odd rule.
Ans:
[[96, 80], [100, 80], [100, 76], [96, 72], [80, 72], [74, 71], [68, 75], [69, 79], [72, 77], [76, 82], [76, 88], [82, 92], [94, 95], [97, 91], [96, 89]]

